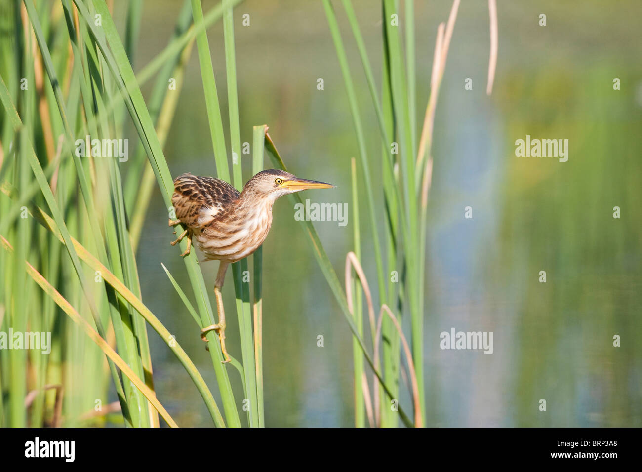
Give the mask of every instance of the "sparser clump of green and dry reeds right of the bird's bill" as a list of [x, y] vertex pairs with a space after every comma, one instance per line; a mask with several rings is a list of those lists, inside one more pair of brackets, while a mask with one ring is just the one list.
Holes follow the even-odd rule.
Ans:
[[[358, 146], [358, 157], [352, 159], [352, 200], [354, 211], [354, 251], [345, 260], [345, 297], [338, 288], [336, 275], [324, 274], [343, 308], [354, 335], [354, 410], [355, 426], [406, 426], [426, 425], [426, 393], [424, 374], [424, 299], [426, 286], [426, 227], [428, 225], [428, 193], [432, 178], [433, 159], [430, 149], [433, 139], [435, 110], [440, 84], [446, 69], [446, 60], [460, 1], [455, 0], [447, 22], [439, 24], [435, 39], [435, 53], [426, 113], [417, 142], [417, 112], [415, 109], [415, 27], [413, 1], [401, 3], [383, 0], [381, 8], [381, 40], [383, 66], [381, 90], [377, 91], [360, 27], [350, 0], [342, 0], [343, 13], [350, 25], [352, 39], [358, 50], [361, 66], [368, 83], [381, 140], [381, 159], [373, 159], [366, 145], [366, 130], [361, 119], [352, 80], [351, 64], [347, 60], [346, 46], [338, 26], [333, 3], [324, 0], [324, 9], [333, 37], [336, 56], [343, 74], [348, 103], [352, 113]], [[334, 2], [338, 4], [339, 2]], [[487, 92], [492, 91], [494, 70], [497, 63], [497, 11], [494, 0], [489, 0], [490, 60]], [[405, 33], [404, 40], [402, 31]], [[425, 58], [424, 58], [425, 60]], [[372, 169], [381, 166], [383, 202], [381, 195], [374, 195]], [[360, 182], [366, 195], [366, 213], [369, 216], [371, 238], [376, 262], [376, 292], [370, 289], [367, 274], [360, 261], [361, 212], [358, 194]], [[385, 214], [383, 227], [377, 214]], [[380, 235], [383, 235], [380, 237]], [[312, 240], [312, 238], [311, 238]], [[316, 241], [312, 241], [316, 247]], [[324, 258], [322, 263], [327, 263]], [[356, 278], [353, 279], [353, 275]], [[365, 307], [361, 291], [365, 296]], [[376, 307], [379, 307], [376, 310]], [[367, 311], [364, 317], [363, 310]], [[378, 317], [376, 312], [378, 311]], [[410, 335], [403, 333], [403, 317], [410, 317]], [[372, 336], [372, 352], [363, 340], [365, 322]], [[402, 362], [403, 360], [405, 363]], [[363, 360], [372, 371], [372, 390]], [[405, 380], [405, 381], [404, 381]], [[402, 389], [404, 387], [404, 389]], [[413, 418], [399, 405], [399, 398], [409, 394]]]

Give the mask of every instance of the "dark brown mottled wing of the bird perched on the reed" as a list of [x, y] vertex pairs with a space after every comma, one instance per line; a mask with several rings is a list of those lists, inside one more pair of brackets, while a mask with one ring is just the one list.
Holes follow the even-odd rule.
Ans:
[[176, 217], [188, 227], [196, 229], [211, 223], [217, 213], [238, 197], [238, 190], [224, 180], [186, 173], [174, 180], [171, 203]]

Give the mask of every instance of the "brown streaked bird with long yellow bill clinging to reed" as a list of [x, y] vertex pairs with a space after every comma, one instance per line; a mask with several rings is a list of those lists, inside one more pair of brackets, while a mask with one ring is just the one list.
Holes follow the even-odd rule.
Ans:
[[185, 173], [174, 180], [171, 202], [178, 220], [169, 220], [169, 226], [183, 223], [187, 229], [171, 245], [187, 236], [187, 249], [181, 254], [186, 256], [191, 239], [195, 238], [205, 261], [221, 261], [214, 283], [218, 323], [203, 328], [201, 338], [207, 341], [205, 335], [216, 331], [225, 358], [223, 363], [230, 362], [225, 349], [225, 311], [221, 297], [227, 266], [246, 258], [263, 244], [272, 226], [272, 205], [277, 198], [305, 189], [332, 187], [276, 169], [257, 173], [241, 193], [224, 180], [213, 177]]

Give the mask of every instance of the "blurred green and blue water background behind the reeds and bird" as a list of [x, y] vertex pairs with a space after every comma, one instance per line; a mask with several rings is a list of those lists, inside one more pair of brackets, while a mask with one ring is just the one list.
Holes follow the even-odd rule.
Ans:
[[[215, 4], [203, 3], [205, 11]], [[353, 4], [379, 82], [381, 11], [369, 1]], [[125, 6], [114, 6], [121, 30]], [[169, 0], [145, 3], [135, 71], [164, 48], [179, 8]], [[450, 1], [415, 3], [419, 123], [437, 25], [447, 21], [450, 8]], [[437, 103], [425, 302], [428, 425], [642, 426], [642, 4], [500, 0], [490, 97], [487, 8], [484, 1], [460, 6]], [[342, 8], [335, 9], [369, 152], [380, 159], [356, 45]], [[245, 13], [250, 26], [241, 26]], [[546, 26], [539, 26], [541, 13]], [[241, 142], [251, 143], [252, 126], [266, 124], [293, 173], [336, 184], [333, 191], [302, 196], [349, 204], [347, 226], [315, 223], [336, 272], [343, 274], [345, 255], [353, 249], [350, 158], [358, 149], [322, 4], [247, 0], [235, 9], [234, 21]], [[220, 22], [208, 36], [219, 95], [225, 97]], [[323, 91], [317, 90], [318, 78], [324, 79]], [[473, 81], [471, 91], [464, 89], [466, 78]], [[620, 91], [613, 89], [614, 78], [620, 78]], [[226, 100], [221, 107], [227, 117]], [[568, 139], [568, 162], [516, 157], [514, 143], [527, 134]], [[196, 49], [165, 155], [174, 176], [215, 176]], [[247, 159], [248, 172], [250, 155], [241, 159]], [[121, 169], [126, 173], [126, 166]], [[373, 182], [380, 207], [383, 191]], [[472, 219], [464, 218], [467, 206]], [[613, 218], [615, 206], [620, 219]], [[365, 213], [363, 265], [374, 274]], [[266, 425], [351, 426], [350, 331], [291, 205], [277, 202], [273, 215], [263, 245]], [[211, 360], [189, 314], [170, 315], [185, 310], [160, 263], [179, 283], [187, 284], [187, 275], [169, 236], [157, 193], [137, 254], [143, 300], [216, 395]], [[211, 295], [218, 263], [201, 267]], [[546, 283], [538, 281], [541, 270]], [[227, 282], [225, 304], [233, 306], [230, 277]], [[240, 356], [230, 313], [229, 351]], [[439, 333], [451, 328], [493, 331], [494, 353], [442, 351]], [[317, 347], [318, 335], [324, 335], [324, 347]], [[613, 346], [614, 335], [621, 336], [621, 347]], [[209, 426], [187, 373], [153, 332], [150, 342], [164, 406], [179, 424]], [[240, 378], [230, 372], [240, 388]], [[546, 399], [546, 412], [539, 411], [540, 399]]]

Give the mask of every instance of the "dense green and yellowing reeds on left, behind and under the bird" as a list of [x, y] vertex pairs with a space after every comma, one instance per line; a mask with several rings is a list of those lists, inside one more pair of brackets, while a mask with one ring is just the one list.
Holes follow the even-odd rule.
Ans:
[[[1, 425], [103, 424], [107, 415], [113, 421], [116, 409], [126, 426], [158, 426], [159, 414], [175, 426], [155, 398], [148, 325], [185, 367], [214, 424], [241, 424], [241, 404], [234, 400], [220, 349], [214, 348], [218, 338], [211, 337], [210, 354], [222, 414], [194, 363], [144, 305], [135, 259], [154, 177], [171, 211], [173, 184], [162, 144], [171, 126], [182, 71], [195, 41], [205, 58], [201, 52], [203, 40], [207, 42], [205, 28], [221, 18], [232, 152], [239, 153], [238, 107], [232, 114], [237, 98], [230, 87], [236, 83], [231, 21], [238, 3], [226, 0], [203, 15], [199, 2], [186, 2], [168, 46], [138, 75], [132, 60], [141, 21], [139, 1], [128, 6], [124, 42], [102, 0], [62, 0], [39, 4], [39, 9], [31, 0], [15, 1], [5, 12], [13, 21], [3, 30], [10, 33], [0, 41], [0, 330], [49, 331], [51, 353], [0, 351]], [[206, 64], [211, 71], [211, 62]], [[155, 87], [146, 102], [139, 87], [153, 74], [157, 74]], [[168, 90], [170, 76], [177, 78], [176, 90]], [[21, 88], [22, 78], [27, 85]], [[204, 83], [206, 100], [218, 100], [213, 74], [204, 76]], [[91, 146], [87, 155], [74, 152], [78, 137], [122, 138], [126, 115], [139, 137], [130, 146], [135, 151], [126, 164], [117, 157], [94, 155]], [[216, 128], [216, 162], [219, 175], [229, 180], [220, 112], [216, 118], [210, 115]], [[257, 150], [255, 166], [262, 166]], [[234, 177], [234, 183], [242, 185], [240, 159]], [[260, 293], [260, 254], [255, 258], [255, 293], [256, 287]], [[216, 314], [195, 253], [184, 261], [196, 307], [168, 272], [186, 306], [176, 315], [191, 314], [200, 327], [212, 324]], [[263, 385], [256, 382], [261, 375], [260, 344], [254, 344], [249, 285], [240, 290], [244, 365], [232, 364], [248, 387], [243, 395], [251, 402], [248, 424], [259, 426], [263, 424]], [[260, 313], [260, 300], [255, 312]], [[107, 405], [110, 382], [116, 387], [116, 406]]]

